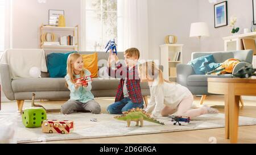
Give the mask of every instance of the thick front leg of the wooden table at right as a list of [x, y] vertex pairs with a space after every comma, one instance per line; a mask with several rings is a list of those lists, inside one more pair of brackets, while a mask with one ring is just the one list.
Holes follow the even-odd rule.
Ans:
[[240, 97], [229, 96], [229, 134], [230, 143], [237, 143], [238, 137], [238, 116], [239, 116], [239, 101]]

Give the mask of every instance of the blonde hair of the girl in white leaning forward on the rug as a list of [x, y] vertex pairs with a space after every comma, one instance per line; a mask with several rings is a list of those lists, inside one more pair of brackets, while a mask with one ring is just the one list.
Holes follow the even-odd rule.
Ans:
[[164, 82], [174, 83], [164, 79], [162, 70], [155, 65], [154, 61], [147, 61], [140, 64], [139, 72], [141, 73], [142, 77], [145, 77], [146, 79], [158, 79], [158, 85], [163, 85]]

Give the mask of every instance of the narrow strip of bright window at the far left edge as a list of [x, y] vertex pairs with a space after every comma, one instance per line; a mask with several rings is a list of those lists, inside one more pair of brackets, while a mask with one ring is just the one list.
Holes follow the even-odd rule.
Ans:
[[0, 0], [0, 52], [5, 48], [5, 0]]

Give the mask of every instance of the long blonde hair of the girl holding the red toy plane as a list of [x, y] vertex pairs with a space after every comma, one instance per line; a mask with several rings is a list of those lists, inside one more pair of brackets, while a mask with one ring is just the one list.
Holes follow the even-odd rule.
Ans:
[[[74, 63], [75, 61], [77, 60], [77, 58], [80, 58], [81, 55], [79, 53], [72, 53], [71, 55], [68, 56], [68, 60], [67, 60], [67, 74], [69, 75], [70, 77], [70, 81], [72, 83], [76, 83], [75, 81], [75, 73], [74, 73]], [[81, 70], [80, 71], [80, 77], [83, 77], [84, 76], [84, 70]], [[66, 81], [66, 84], [65, 84], [67, 87], [68, 87], [68, 83]]]

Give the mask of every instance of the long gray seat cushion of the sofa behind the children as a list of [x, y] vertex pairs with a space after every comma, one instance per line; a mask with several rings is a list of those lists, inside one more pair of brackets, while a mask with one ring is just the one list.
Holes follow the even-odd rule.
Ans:
[[[117, 90], [119, 79], [92, 78], [92, 90]], [[13, 91], [68, 91], [64, 78], [14, 78]], [[141, 89], [149, 89], [147, 83], [141, 83]], [[115, 91], [116, 92], [116, 91]]]

